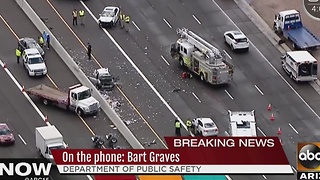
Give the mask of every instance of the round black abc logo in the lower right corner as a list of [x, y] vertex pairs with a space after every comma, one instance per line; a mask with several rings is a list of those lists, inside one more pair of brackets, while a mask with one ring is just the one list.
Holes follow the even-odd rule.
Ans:
[[306, 144], [298, 154], [299, 163], [306, 169], [316, 169], [320, 165], [320, 148], [315, 144]]

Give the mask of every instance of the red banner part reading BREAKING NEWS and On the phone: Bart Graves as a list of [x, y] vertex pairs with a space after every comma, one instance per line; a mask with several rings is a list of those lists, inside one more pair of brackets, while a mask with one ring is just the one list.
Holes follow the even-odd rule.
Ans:
[[52, 150], [58, 165], [288, 165], [277, 137], [165, 138], [169, 149]]

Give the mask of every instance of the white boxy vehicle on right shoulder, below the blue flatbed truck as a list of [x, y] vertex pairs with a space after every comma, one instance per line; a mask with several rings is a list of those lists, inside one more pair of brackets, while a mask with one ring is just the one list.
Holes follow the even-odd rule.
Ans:
[[317, 79], [317, 60], [308, 51], [291, 51], [281, 57], [282, 68], [290, 78], [299, 81]]

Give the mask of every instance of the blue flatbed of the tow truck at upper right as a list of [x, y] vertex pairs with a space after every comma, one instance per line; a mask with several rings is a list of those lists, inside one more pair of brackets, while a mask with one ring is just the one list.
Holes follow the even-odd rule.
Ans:
[[320, 46], [320, 39], [305, 27], [285, 30], [284, 34], [287, 34], [287, 36], [301, 49]]

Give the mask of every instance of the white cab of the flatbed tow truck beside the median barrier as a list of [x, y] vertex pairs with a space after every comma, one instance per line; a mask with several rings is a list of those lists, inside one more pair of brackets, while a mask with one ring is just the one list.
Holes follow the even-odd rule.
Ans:
[[100, 109], [100, 103], [91, 95], [92, 89], [77, 84], [69, 88], [69, 108], [79, 115], [94, 114]]

